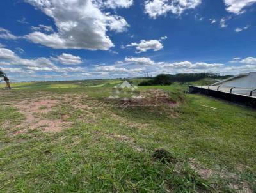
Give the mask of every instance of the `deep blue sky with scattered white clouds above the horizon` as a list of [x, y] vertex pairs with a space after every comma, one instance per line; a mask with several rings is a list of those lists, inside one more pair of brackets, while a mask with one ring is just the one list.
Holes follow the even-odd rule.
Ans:
[[3, 0], [12, 81], [256, 71], [256, 0]]

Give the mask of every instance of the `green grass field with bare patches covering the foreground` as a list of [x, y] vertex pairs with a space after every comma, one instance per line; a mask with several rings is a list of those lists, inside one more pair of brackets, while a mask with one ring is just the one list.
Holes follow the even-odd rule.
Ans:
[[108, 100], [121, 82], [0, 90], [0, 192], [256, 192], [255, 109], [178, 83], [138, 87], [156, 106]]

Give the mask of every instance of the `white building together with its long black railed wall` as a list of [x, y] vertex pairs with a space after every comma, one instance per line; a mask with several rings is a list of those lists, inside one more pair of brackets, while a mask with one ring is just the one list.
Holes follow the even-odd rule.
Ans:
[[241, 73], [211, 85], [189, 86], [189, 93], [202, 93], [256, 107], [256, 72]]

